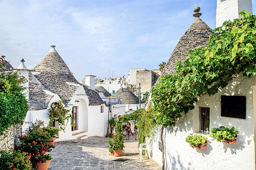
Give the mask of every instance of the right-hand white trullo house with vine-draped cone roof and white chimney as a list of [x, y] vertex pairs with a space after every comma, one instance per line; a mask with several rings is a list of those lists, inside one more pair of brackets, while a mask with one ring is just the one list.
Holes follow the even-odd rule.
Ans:
[[[251, 11], [251, 0], [217, 0], [217, 20], [229, 17], [234, 12], [238, 17], [244, 8]], [[228, 10], [228, 11], [218, 11]], [[207, 45], [208, 36], [212, 29], [204, 23], [198, 15], [194, 23], [180, 38], [172, 52], [169, 61], [162, 71], [162, 75], [174, 74], [176, 61], [183, 62], [187, 52], [197, 46]], [[229, 20], [230, 18], [228, 18]], [[233, 18], [234, 19], [234, 18]], [[239, 98], [239, 102], [232, 102]], [[167, 127], [163, 132], [165, 145], [166, 170], [255, 170], [256, 159], [256, 77], [233, 78], [227, 87], [220, 89], [213, 96], [198, 97], [195, 108], [182, 115], [175, 126]], [[241, 107], [238, 107], [240, 105]], [[221, 110], [230, 108], [230, 113]], [[246, 108], [244, 111], [241, 108]], [[234, 110], [239, 109], [239, 114]], [[241, 110], [240, 110], [241, 109]], [[211, 140], [209, 130], [218, 127], [235, 127], [239, 131], [234, 144]], [[158, 128], [160, 130], [160, 128]], [[207, 136], [207, 147], [203, 150], [192, 148], [186, 143], [189, 133]], [[160, 148], [160, 133], [155, 133], [153, 139], [148, 140], [151, 146], [152, 158], [162, 164]]]

